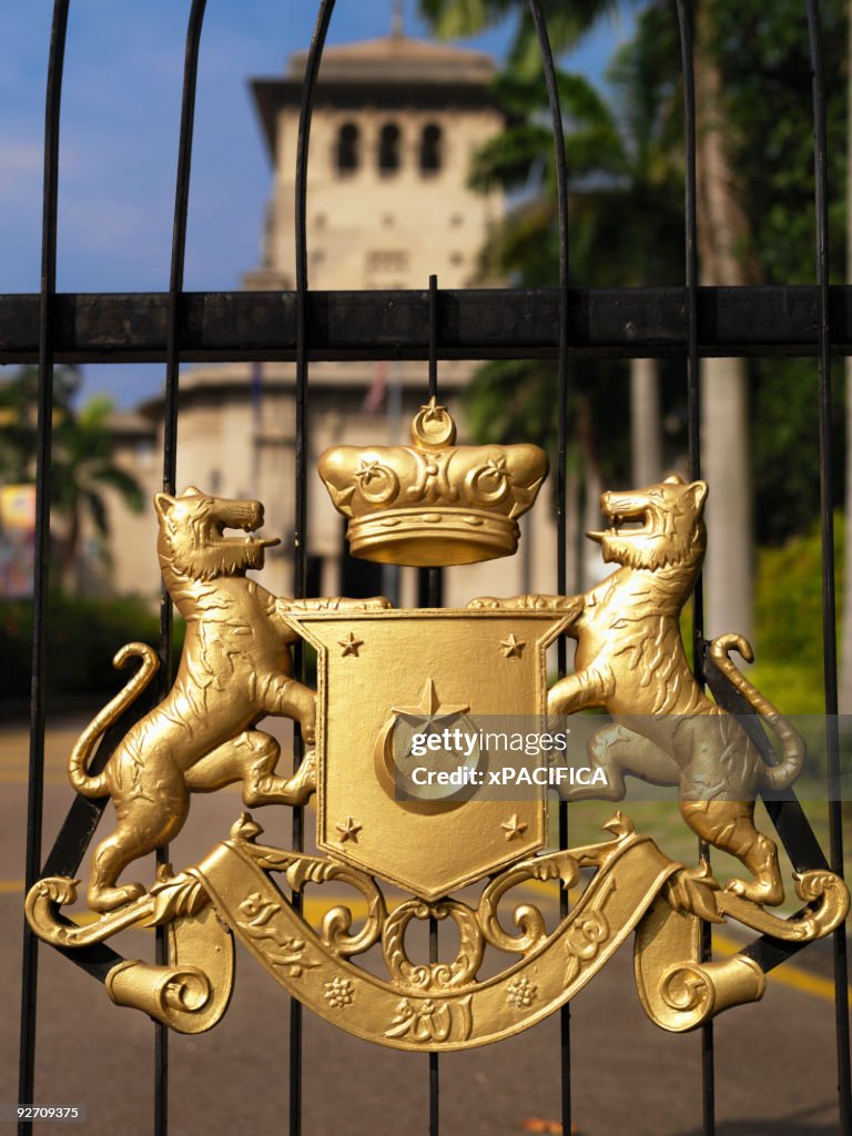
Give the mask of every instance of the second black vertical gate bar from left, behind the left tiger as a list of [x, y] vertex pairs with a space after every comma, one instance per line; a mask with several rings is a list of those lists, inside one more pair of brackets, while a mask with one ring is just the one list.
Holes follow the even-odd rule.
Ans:
[[[177, 396], [181, 367], [179, 319], [183, 294], [184, 260], [186, 253], [186, 216], [190, 200], [190, 170], [192, 166], [192, 132], [195, 117], [195, 86], [201, 27], [207, 0], [193, 0], [186, 25], [186, 44], [183, 65], [183, 93], [181, 98], [181, 133], [177, 142], [177, 174], [175, 178], [175, 214], [172, 226], [172, 265], [169, 270], [168, 308], [166, 326], [166, 387], [162, 427], [162, 491], [174, 494], [177, 467]], [[172, 599], [165, 585], [160, 591], [160, 673], [158, 693], [165, 698], [172, 685]], [[157, 866], [168, 863], [168, 846], [157, 850]], [[158, 966], [168, 963], [168, 935], [166, 927], [156, 933], [154, 958]], [[153, 1131], [165, 1136], [168, 1130], [168, 1029], [154, 1022], [154, 1093]]]

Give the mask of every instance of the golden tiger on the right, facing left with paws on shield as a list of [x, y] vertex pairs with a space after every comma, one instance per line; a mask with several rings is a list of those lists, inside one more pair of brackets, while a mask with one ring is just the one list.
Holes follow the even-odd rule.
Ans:
[[625, 774], [655, 785], [677, 785], [679, 809], [709, 844], [736, 857], [752, 880], [733, 879], [730, 891], [754, 903], [778, 904], [784, 888], [775, 843], [754, 827], [761, 788], [783, 790], [801, 771], [801, 736], [728, 658], [749, 662], [752, 650], [740, 635], [722, 635], [710, 655], [780, 742], [780, 762], [767, 766], [736, 718], [711, 702], [690, 669], [679, 617], [701, 571], [707, 549], [703, 521], [707, 484], [680, 477], [646, 488], [603, 493], [609, 527], [586, 535], [608, 563], [620, 567], [585, 595], [484, 598], [475, 607], [552, 607], [576, 613], [567, 635], [575, 638], [576, 670], [548, 694], [553, 715], [602, 708], [616, 719], [588, 742], [602, 785], [566, 787], [569, 800], [620, 801]]

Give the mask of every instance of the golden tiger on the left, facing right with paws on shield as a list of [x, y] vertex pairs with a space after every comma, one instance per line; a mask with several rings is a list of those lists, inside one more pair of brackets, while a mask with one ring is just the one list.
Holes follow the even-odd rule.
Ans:
[[[70, 783], [87, 797], [109, 795], [115, 832], [92, 859], [86, 899], [110, 911], [144, 892], [141, 884], [117, 885], [133, 860], [173, 840], [183, 827], [190, 793], [210, 793], [242, 782], [247, 805], [301, 804], [315, 788], [316, 694], [292, 675], [290, 644], [296, 633], [287, 611], [387, 608], [373, 600], [275, 596], [249, 569], [264, 567], [265, 550], [277, 540], [257, 538], [264, 524], [259, 501], [210, 496], [190, 487], [181, 496], [158, 493], [157, 552], [162, 579], [186, 620], [177, 677], [166, 698], [127, 732], [102, 772], [86, 772], [95, 742], [149, 685], [156, 652], [128, 643], [115, 665], [139, 657], [142, 666], [76, 742], [68, 762]], [[244, 537], [225, 536], [239, 528]], [[256, 729], [267, 715], [292, 718], [309, 746], [299, 771], [275, 772], [281, 747]]]

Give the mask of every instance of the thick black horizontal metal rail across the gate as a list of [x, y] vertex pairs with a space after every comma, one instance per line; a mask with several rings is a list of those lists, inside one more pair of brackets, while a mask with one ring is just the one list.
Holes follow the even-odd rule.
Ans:
[[[69, 292], [53, 301], [57, 362], [164, 362], [168, 292]], [[0, 365], [39, 358], [37, 294], [0, 295]], [[557, 358], [558, 289], [442, 290], [442, 359]], [[810, 356], [819, 351], [819, 289], [701, 287], [701, 356]], [[428, 359], [428, 291], [309, 292], [308, 357]], [[852, 353], [852, 287], [829, 290], [832, 352]], [[568, 353], [685, 358], [686, 290], [570, 289]], [[295, 292], [184, 292], [184, 362], [296, 358]]]

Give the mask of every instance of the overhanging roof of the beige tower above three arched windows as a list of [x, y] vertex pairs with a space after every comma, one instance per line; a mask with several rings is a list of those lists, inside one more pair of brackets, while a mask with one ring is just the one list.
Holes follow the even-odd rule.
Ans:
[[[276, 118], [285, 107], [298, 108], [307, 51], [290, 57], [281, 78], [254, 78], [254, 95], [269, 153], [275, 159]], [[323, 52], [314, 106], [335, 109], [378, 107], [494, 107], [491, 80], [494, 60], [484, 51], [415, 40], [394, 30], [390, 35], [328, 47]]]

